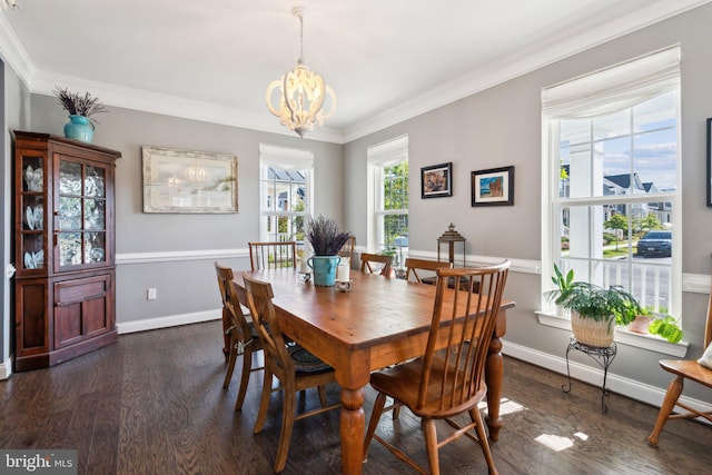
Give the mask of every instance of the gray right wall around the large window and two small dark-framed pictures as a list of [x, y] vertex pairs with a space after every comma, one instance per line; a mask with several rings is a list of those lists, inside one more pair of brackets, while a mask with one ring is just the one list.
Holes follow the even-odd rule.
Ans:
[[[453, 221], [467, 238], [467, 254], [538, 261], [541, 259], [541, 90], [596, 69], [674, 43], [682, 47], [682, 236], [683, 273], [709, 275], [712, 260], [712, 209], [705, 206], [705, 119], [712, 116], [710, 61], [712, 6], [699, 8], [627, 34], [455, 103], [355, 140], [345, 147], [349, 174], [347, 222], [366, 236], [366, 209], [358, 184], [366, 180], [366, 149], [404, 133], [409, 139], [409, 244], [413, 250], [437, 250], [436, 238]], [[453, 162], [453, 197], [421, 199], [419, 168]], [[513, 207], [471, 207], [469, 172], [515, 166]], [[676, 228], [676, 231], [678, 232]], [[515, 273], [506, 295], [516, 300], [506, 340], [562, 358], [570, 331], [540, 325], [541, 283], [535, 273]], [[702, 352], [708, 296], [683, 295], [683, 329], [691, 343], [688, 355]], [[506, 345], [505, 345], [506, 350]], [[612, 372], [622, 378], [665, 388], [670, 376], [662, 355], [619, 345]], [[574, 358], [587, 364], [585, 357]], [[704, 400], [699, 387], [686, 389]]]

